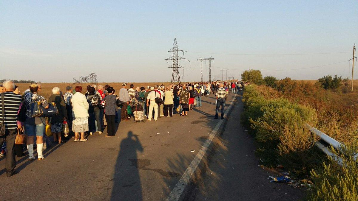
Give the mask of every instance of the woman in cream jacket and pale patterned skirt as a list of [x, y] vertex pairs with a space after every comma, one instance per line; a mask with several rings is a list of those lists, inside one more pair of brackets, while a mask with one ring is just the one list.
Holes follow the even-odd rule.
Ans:
[[[72, 96], [72, 131], [74, 132], [75, 138], [74, 141], [87, 141], [84, 138], [84, 132], [88, 131], [88, 108], [89, 104], [87, 102], [86, 96], [83, 95], [82, 87], [76, 86], [76, 93]], [[81, 133], [81, 139], [78, 139], [78, 133]]]

